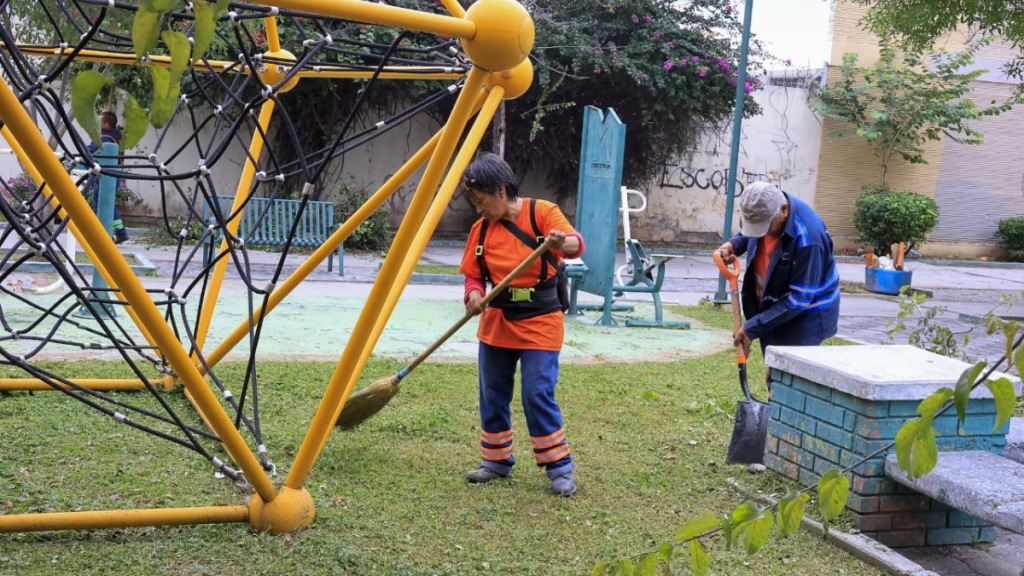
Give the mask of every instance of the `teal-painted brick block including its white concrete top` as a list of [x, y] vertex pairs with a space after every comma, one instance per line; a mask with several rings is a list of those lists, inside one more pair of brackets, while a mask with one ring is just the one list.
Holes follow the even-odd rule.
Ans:
[[[891, 443], [922, 400], [954, 387], [968, 367], [912, 346], [772, 347], [766, 363], [773, 383], [765, 463], [804, 485]], [[976, 390], [965, 423], [954, 411], [936, 418], [939, 450], [1001, 455], [1009, 426], [993, 433], [994, 424], [990, 393]], [[894, 547], [995, 539], [993, 527], [888, 479], [885, 456], [849, 475], [847, 507], [862, 533]]]

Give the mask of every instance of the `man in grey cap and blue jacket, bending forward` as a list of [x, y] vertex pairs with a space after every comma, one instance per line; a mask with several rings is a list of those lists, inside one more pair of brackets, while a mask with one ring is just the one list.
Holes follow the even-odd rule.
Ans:
[[[723, 244], [731, 264], [746, 254], [742, 306], [746, 322], [734, 334], [746, 354], [751, 341], [818, 345], [839, 329], [839, 271], [821, 218], [774, 184], [755, 182], [739, 198], [739, 234]], [[769, 370], [769, 377], [771, 371]]]

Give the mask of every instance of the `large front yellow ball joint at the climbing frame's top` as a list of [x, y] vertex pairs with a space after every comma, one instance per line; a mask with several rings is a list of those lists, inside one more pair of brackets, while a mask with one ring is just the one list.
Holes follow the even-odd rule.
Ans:
[[499, 72], [514, 68], [534, 49], [534, 19], [515, 0], [478, 0], [466, 12], [476, 34], [462, 41], [474, 66]]

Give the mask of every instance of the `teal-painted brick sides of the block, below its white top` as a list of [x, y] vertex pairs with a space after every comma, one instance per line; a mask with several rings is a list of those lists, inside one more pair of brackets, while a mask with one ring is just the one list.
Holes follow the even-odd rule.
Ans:
[[[816, 484], [825, 471], [850, 466], [890, 444], [906, 421], [919, 417], [920, 404], [866, 402], [776, 370], [765, 463], [801, 484]], [[964, 424], [951, 412], [937, 418], [939, 449], [1001, 453], [1008, 426], [993, 433], [994, 413], [993, 401], [976, 400], [969, 404]], [[862, 533], [891, 546], [994, 539], [994, 529], [978, 519], [886, 478], [884, 457], [859, 464], [849, 475], [847, 507]]]

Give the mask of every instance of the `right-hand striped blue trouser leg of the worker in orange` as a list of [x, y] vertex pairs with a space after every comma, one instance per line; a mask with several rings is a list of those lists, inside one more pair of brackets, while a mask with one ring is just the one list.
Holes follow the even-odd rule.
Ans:
[[549, 476], [571, 471], [572, 454], [565, 440], [561, 410], [555, 400], [558, 353], [523, 351], [521, 373], [522, 408], [526, 413], [537, 465], [548, 468]]

